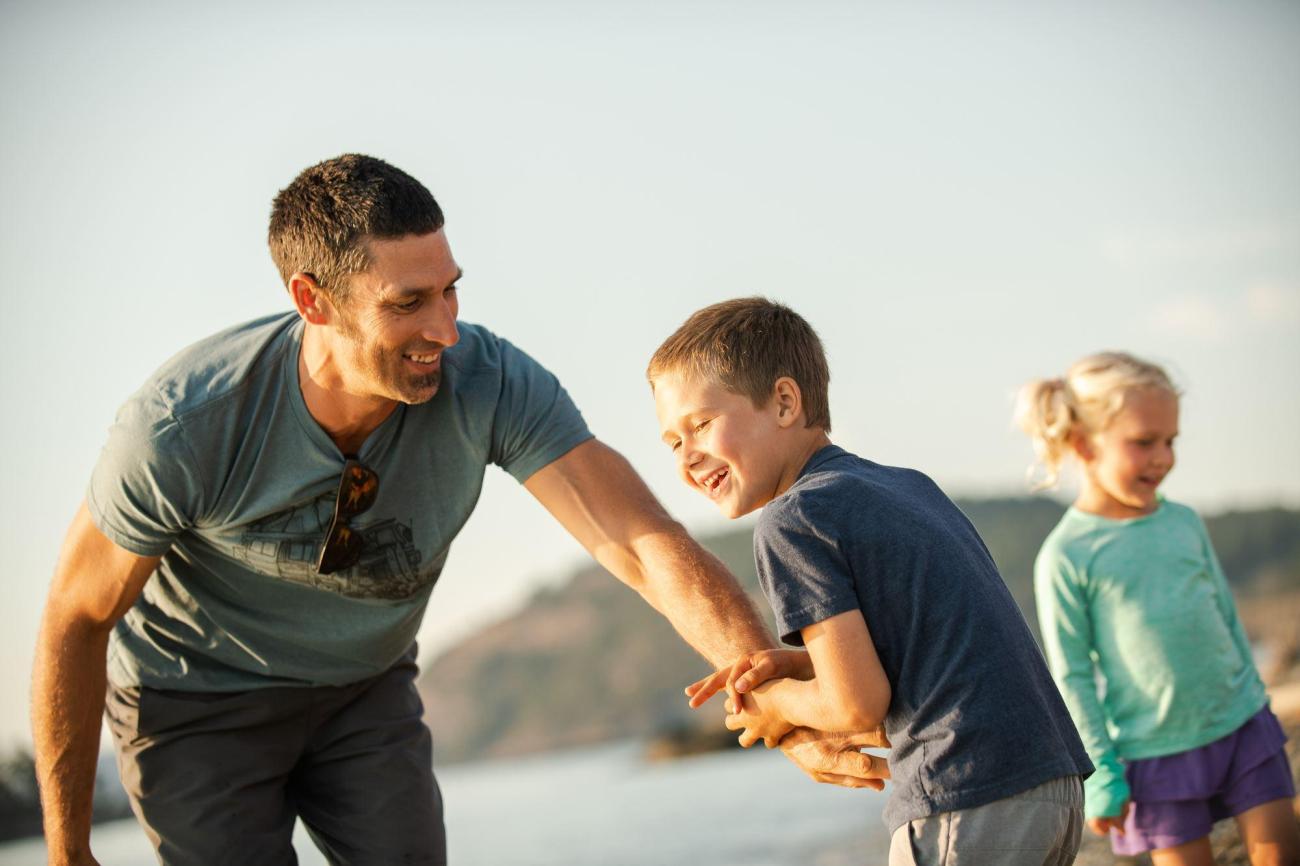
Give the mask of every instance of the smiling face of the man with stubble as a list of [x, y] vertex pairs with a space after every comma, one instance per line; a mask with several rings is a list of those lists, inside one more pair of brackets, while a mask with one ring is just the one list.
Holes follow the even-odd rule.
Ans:
[[438, 393], [442, 352], [456, 345], [460, 268], [442, 230], [370, 241], [372, 264], [334, 304], [335, 351], [350, 390], [402, 403]]

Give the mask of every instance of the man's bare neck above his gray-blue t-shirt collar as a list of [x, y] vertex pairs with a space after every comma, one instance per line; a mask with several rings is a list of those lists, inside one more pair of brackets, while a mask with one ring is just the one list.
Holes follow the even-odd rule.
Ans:
[[343, 454], [356, 454], [365, 438], [398, 407], [396, 400], [350, 390], [334, 354], [316, 329], [303, 332], [298, 387], [312, 419]]

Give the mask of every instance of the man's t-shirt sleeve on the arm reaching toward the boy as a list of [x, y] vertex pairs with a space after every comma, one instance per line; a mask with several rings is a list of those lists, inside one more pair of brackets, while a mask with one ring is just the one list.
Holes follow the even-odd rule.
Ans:
[[502, 389], [493, 416], [489, 459], [523, 482], [592, 438], [592, 432], [549, 369], [510, 341], [495, 339], [500, 348]]

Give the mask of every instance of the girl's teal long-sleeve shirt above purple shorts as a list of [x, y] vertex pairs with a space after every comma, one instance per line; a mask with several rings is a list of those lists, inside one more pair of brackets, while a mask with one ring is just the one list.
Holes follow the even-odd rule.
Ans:
[[1245, 631], [1205, 524], [1161, 501], [1113, 520], [1066, 511], [1034, 567], [1052, 676], [1097, 771], [1088, 818], [1117, 815], [1122, 761], [1196, 749], [1264, 706]]

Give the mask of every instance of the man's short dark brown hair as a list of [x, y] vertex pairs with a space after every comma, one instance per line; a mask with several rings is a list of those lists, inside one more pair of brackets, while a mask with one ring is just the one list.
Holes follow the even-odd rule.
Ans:
[[342, 302], [348, 277], [370, 265], [369, 241], [428, 234], [442, 224], [442, 208], [420, 181], [373, 156], [344, 153], [280, 191], [266, 242], [286, 286], [295, 273], [309, 273]]

